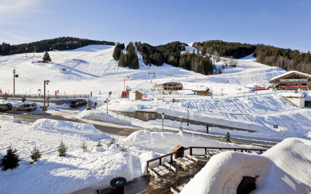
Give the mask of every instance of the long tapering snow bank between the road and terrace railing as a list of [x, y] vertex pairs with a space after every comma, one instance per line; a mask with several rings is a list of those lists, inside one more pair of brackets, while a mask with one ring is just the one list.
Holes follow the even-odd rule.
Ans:
[[[181, 145], [184, 147], [189, 146], [217, 146], [217, 147], [244, 147], [244, 148], [262, 148], [259, 146], [250, 145], [237, 145], [215, 140], [207, 140], [201, 137], [188, 135], [182, 132], [178, 134], [167, 132], [152, 132], [148, 130], [139, 130], [133, 132], [122, 142], [127, 146], [144, 147], [148, 149], [160, 149], [173, 152], [173, 148]], [[203, 154], [202, 151], [200, 154]]]

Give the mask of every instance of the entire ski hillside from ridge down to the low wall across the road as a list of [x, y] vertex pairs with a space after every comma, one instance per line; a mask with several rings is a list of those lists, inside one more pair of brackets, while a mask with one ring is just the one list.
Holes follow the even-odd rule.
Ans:
[[[192, 51], [193, 47], [187, 47]], [[282, 92], [270, 90], [249, 92], [244, 86], [269, 85], [269, 80], [286, 71], [255, 62], [251, 55], [237, 60], [237, 67], [225, 67], [220, 75], [202, 75], [179, 67], [164, 64], [163, 66], [148, 66], [143, 63], [138, 53], [140, 68], [129, 69], [118, 67], [118, 62], [113, 60], [113, 46], [90, 45], [87, 47], [68, 51], [49, 51], [52, 62], [49, 64], [36, 63], [42, 60], [37, 56], [44, 53], [16, 54], [0, 57], [0, 88], [2, 91], [13, 91], [12, 70], [16, 69], [19, 75], [16, 81], [16, 94], [36, 94], [38, 89], [43, 89], [43, 81], [50, 80], [47, 90], [50, 94], [59, 90], [60, 94], [89, 94], [95, 96], [100, 106], [105, 106], [104, 99], [112, 91], [109, 109], [120, 111], [140, 110], [141, 104], [156, 106], [151, 111], [167, 115], [187, 117], [187, 107], [190, 107], [190, 119], [209, 123], [232, 126], [242, 129], [257, 130], [252, 136], [262, 138], [284, 139], [286, 137], [300, 137], [311, 139], [311, 110], [294, 107], [283, 97]], [[196, 50], [196, 49], [195, 49]], [[34, 64], [32, 64], [34, 60]], [[224, 60], [216, 63], [221, 67]], [[67, 68], [67, 71], [62, 71]], [[156, 77], [152, 78], [148, 71], [155, 71]], [[147, 100], [127, 101], [118, 99], [121, 91], [128, 85], [132, 89], [141, 89], [148, 96]], [[179, 94], [167, 95], [165, 100], [149, 100], [160, 98], [153, 86], [162, 81], [180, 81], [185, 90]], [[229, 82], [228, 82], [229, 81]], [[200, 85], [208, 86], [213, 91], [213, 98], [195, 96], [191, 89]], [[52, 91], [52, 92], [51, 92]], [[101, 95], [99, 95], [101, 91]], [[310, 92], [305, 92], [310, 96]], [[170, 103], [176, 98], [180, 103]], [[308, 97], [308, 96], [307, 96]], [[148, 123], [148, 122], [147, 122]], [[148, 127], [148, 124], [145, 124]], [[138, 123], [133, 123], [136, 126]], [[273, 126], [279, 128], [274, 130]], [[144, 125], [139, 123], [140, 127]], [[198, 130], [189, 127], [189, 130]], [[225, 132], [217, 129], [218, 132]], [[225, 130], [225, 129], [224, 129]], [[249, 135], [243, 131], [232, 131], [234, 135]], [[245, 134], [246, 133], [246, 134]]]

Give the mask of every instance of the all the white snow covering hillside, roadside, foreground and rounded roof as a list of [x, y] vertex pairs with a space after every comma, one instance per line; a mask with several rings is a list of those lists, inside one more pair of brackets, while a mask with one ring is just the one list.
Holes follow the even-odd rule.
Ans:
[[[191, 46], [191, 44], [189, 45]], [[187, 46], [186, 49], [192, 52], [193, 47], [190, 46]], [[306, 156], [307, 153], [310, 153], [308, 145], [311, 140], [311, 109], [294, 107], [283, 98], [286, 96], [302, 97], [303, 95], [306, 100], [310, 101], [311, 92], [298, 91], [295, 94], [290, 91], [263, 90], [255, 93], [244, 88], [254, 85], [257, 81], [261, 86], [268, 86], [270, 80], [283, 76], [286, 73], [285, 70], [256, 63], [256, 59], [249, 55], [236, 60], [235, 68], [228, 65], [222, 69], [222, 74], [202, 75], [168, 64], [163, 64], [163, 66], [145, 65], [139, 53], [139, 69], [129, 69], [128, 67], [118, 67], [118, 62], [112, 58], [113, 50], [113, 46], [89, 45], [71, 51], [49, 51], [52, 62], [48, 64], [36, 63], [36, 60], [41, 60], [39, 56], [43, 56], [44, 53], [28, 53], [27, 57], [25, 54], [0, 56], [2, 93], [12, 94], [11, 72], [14, 67], [16, 74], [19, 75], [15, 79], [16, 94], [37, 94], [38, 89], [43, 92], [43, 80], [50, 80], [49, 85], [46, 85], [46, 90], [49, 90], [50, 94], [57, 90], [60, 95], [65, 93], [67, 95], [90, 94], [92, 92], [93, 97], [89, 98], [90, 101], [98, 103], [97, 109], [85, 110], [81, 113], [78, 113], [77, 109], [70, 109], [68, 104], [50, 103], [47, 113], [63, 115], [66, 118], [78, 118], [84, 122], [100, 121], [107, 126], [121, 125], [122, 127], [146, 129], [134, 132], [125, 138], [104, 134], [90, 124], [50, 119], [40, 119], [34, 124], [21, 123], [12, 116], [0, 113], [0, 157], [6, 153], [9, 143], [12, 142], [21, 158], [17, 169], [0, 172], [0, 182], [3, 183], [0, 185], [1, 192], [32, 194], [40, 191], [41, 193], [63, 194], [86, 187], [104, 188], [109, 185], [109, 181], [113, 177], [122, 176], [131, 180], [145, 175], [145, 161], [172, 152], [177, 145], [186, 147], [195, 145], [241, 146], [206, 140], [180, 132], [177, 134], [152, 132], [160, 131], [162, 119], [145, 122], [112, 112], [151, 111], [187, 118], [187, 107], [190, 107], [189, 119], [256, 131], [251, 133], [210, 127], [209, 135], [211, 137], [223, 137], [229, 131], [232, 138], [263, 142], [283, 141], [281, 146], [276, 146], [277, 150], [272, 148], [273, 151], [269, 150], [271, 152], [267, 151], [260, 156], [238, 152], [225, 152], [213, 156], [201, 173], [202, 178], [204, 175], [208, 175], [211, 179], [205, 179], [202, 185], [212, 182], [214, 186], [217, 186], [217, 182], [220, 180], [215, 179], [216, 177], [211, 176], [210, 173], [215, 173], [215, 169], [218, 169], [219, 173], [216, 172], [216, 175], [226, 180], [226, 182], [222, 182], [222, 186], [227, 189], [225, 191], [233, 192], [237, 187], [236, 183], [241, 181], [241, 176], [248, 167], [251, 169], [250, 173], [253, 173], [250, 176], [260, 174], [257, 181], [260, 185], [259, 189], [262, 191], [279, 189], [280, 193], [287, 190], [290, 191], [289, 193], [295, 193], [301, 188], [303, 192], [300, 193], [311, 192], [310, 189], [306, 190], [306, 185], [311, 185], [307, 180], [307, 178], [311, 179], [309, 170], [311, 160], [309, 156]], [[79, 61], [74, 59], [79, 59]], [[217, 68], [222, 68], [225, 60], [228, 61], [226, 58], [221, 57], [220, 59], [220, 62], [215, 64]], [[32, 63], [33, 61], [34, 63]], [[68, 70], [62, 71], [62, 68]], [[153, 83], [150, 81], [148, 71], [156, 73]], [[165, 82], [182, 83], [184, 90], [178, 91], [178, 94], [159, 95], [158, 91], [154, 90], [154, 85]], [[133, 90], [143, 91], [148, 98], [136, 101], [121, 99], [121, 92], [126, 85]], [[208, 86], [208, 89], [213, 91], [213, 98], [193, 95], [191, 90], [200, 85]], [[108, 97], [110, 91], [112, 91], [112, 96]], [[108, 114], [106, 113], [107, 104], [104, 103], [107, 98], [110, 100]], [[179, 103], [170, 102], [173, 98], [179, 99]], [[18, 106], [22, 103], [20, 100], [9, 99], [5, 102]], [[33, 102], [37, 99], [26, 100]], [[4, 100], [1, 99], [2, 101]], [[35, 103], [37, 107], [43, 106], [42, 102], [36, 101]], [[152, 108], [142, 109], [142, 105], [144, 107], [149, 105]], [[9, 112], [7, 111], [7, 113]], [[39, 108], [31, 113], [43, 114]], [[205, 133], [204, 126], [193, 124], [187, 126], [187, 123], [164, 119], [164, 129], [177, 132], [180, 125], [185, 132]], [[278, 125], [278, 128], [274, 129], [274, 125]], [[62, 138], [66, 146], [69, 147], [68, 155], [65, 158], [58, 157], [56, 151], [59, 140]], [[82, 153], [80, 148], [83, 138], [88, 145], [86, 153]], [[121, 153], [120, 147], [107, 148], [106, 144], [112, 138], [116, 138], [118, 143], [124, 144], [128, 150]], [[95, 147], [99, 139], [103, 140], [103, 148]], [[43, 152], [42, 159], [29, 165], [29, 155], [34, 147], [34, 142]], [[292, 146], [293, 149], [287, 145]], [[256, 146], [244, 145], [243, 147]], [[216, 164], [216, 161], [220, 163]], [[290, 162], [295, 165], [290, 165]], [[245, 168], [243, 168], [243, 163], [246, 165]], [[223, 165], [228, 166], [229, 164], [231, 167], [227, 172]], [[150, 165], [156, 164], [151, 163]], [[308, 174], [302, 169], [308, 169], [306, 170]], [[234, 177], [235, 175], [240, 177]], [[292, 183], [289, 183], [290, 181]], [[20, 184], [15, 184], [16, 187], [12, 188], [12, 182]], [[275, 190], [272, 188], [274, 183], [277, 184]], [[213, 185], [202, 189], [213, 189]], [[222, 187], [221, 191], [224, 191], [224, 188]], [[183, 192], [186, 193], [186, 189], [187, 187]], [[194, 193], [193, 191], [191, 193]]]

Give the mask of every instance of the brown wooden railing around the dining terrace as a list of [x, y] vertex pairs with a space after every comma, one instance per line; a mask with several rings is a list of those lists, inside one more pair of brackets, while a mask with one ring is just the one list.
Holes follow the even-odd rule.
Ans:
[[234, 150], [234, 151], [237, 151], [237, 150], [241, 150], [241, 152], [243, 151], [259, 151], [260, 154], [262, 154], [263, 151], [267, 151], [267, 149], [256, 149], [256, 148], [234, 148], [234, 147], [201, 147], [201, 146], [190, 146], [190, 147], [186, 147], [184, 149], [180, 149], [178, 151], [175, 151], [175, 152], [171, 152], [169, 154], [166, 154], [166, 155], [163, 155], [163, 156], [160, 156], [160, 157], [157, 157], [157, 158], [154, 158], [154, 159], [151, 159], [149, 161], [146, 161], [147, 162], [147, 169], [149, 167], [149, 162], [153, 162], [153, 161], [156, 161], [156, 160], [159, 160], [159, 165], [162, 165], [162, 158], [165, 158], [165, 157], [168, 157], [168, 156], [171, 156], [171, 162], [170, 163], [173, 163], [174, 159], [173, 159], [173, 155], [174, 154], [179, 154], [179, 156], [181, 157], [184, 157], [184, 151], [188, 150], [190, 151], [190, 156], [204, 156], [204, 154], [192, 154], [192, 149], [204, 149], [205, 153], [207, 153], [207, 149], [219, 149], [220, 151], [223, 149], [225, 150]]

